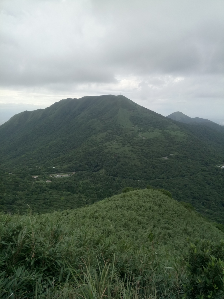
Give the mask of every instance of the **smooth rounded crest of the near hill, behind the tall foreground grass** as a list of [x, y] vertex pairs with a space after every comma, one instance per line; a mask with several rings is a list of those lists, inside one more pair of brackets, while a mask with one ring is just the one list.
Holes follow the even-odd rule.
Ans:
[[163, 246], [167, 246], [172, 256], [184, 252], [187, 237], [213, 241], [224, 237], [223, 232], [206, 222], [200, 214], [153, 189], [122, 193], [88, 207], [36, 217], [37, 221], [46, 217], [47, 222], [58, 219], [67, 223], [69, 230], [86, 225], [97, 235], [116, 235], [118, 240], [124, 239], [135, 246], [144, 244], [149, 247], [148, 236], [152, 232], [156, 247], [163, 250]]

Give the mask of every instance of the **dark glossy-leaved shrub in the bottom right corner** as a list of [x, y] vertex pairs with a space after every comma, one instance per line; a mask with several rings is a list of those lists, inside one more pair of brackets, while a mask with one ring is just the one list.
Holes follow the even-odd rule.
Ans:
[[184, 298], [223, 298], [224, 241], [190, 243], [186, 260], [188, 281]]

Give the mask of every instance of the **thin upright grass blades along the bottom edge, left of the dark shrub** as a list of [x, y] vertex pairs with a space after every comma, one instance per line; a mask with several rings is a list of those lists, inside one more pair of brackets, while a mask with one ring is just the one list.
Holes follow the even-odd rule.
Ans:
[[[156, 299], [156, 298], [181, 298], [182, 281], [175, 279], [175, 275], [159, 270], [150, 276], [138, 276], [130, 272], [122, 279], [113, 264], [98, 263], [97, 269], [90, 269], [85, 264], [81, 273], [71, 269], [73, 283], [52, 295], [52, 298], [118, 298], [118, 299]], [[157, 272], [157, 273], [156, 273]], [[176, 272], [177, 274], [177, 272]], [[185, 274], [182, 273], [185, 278]]]

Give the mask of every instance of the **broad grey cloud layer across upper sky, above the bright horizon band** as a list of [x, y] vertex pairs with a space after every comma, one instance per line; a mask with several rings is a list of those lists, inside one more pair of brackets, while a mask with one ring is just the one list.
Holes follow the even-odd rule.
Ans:
[[[34, 6], [21, 1], [23, 9], [12, 11], [15, 1], [4, 1], [4, 85], [109, 82], [118, 72], [223, 71], [224, 18], [208, 1], [195, 8], [193, 1], [124, 1], [122, 7], [115, 1], [109, 12], [107, 7], [96, 9], [101, 1], [30, 2]], [[212, 6], [219, 5], [214, 1]], [[102, 14], [108, 19], [100, 18]]]

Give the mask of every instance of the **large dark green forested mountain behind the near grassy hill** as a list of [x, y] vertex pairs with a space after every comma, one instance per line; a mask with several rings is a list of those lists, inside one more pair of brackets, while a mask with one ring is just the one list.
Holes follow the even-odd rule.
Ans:
[[0, 208], [71, 209], [149, 184], [223, 222], [223, 148], [222, 126], [180, 123], [122, 95], [61, 100], [0, 126]]

